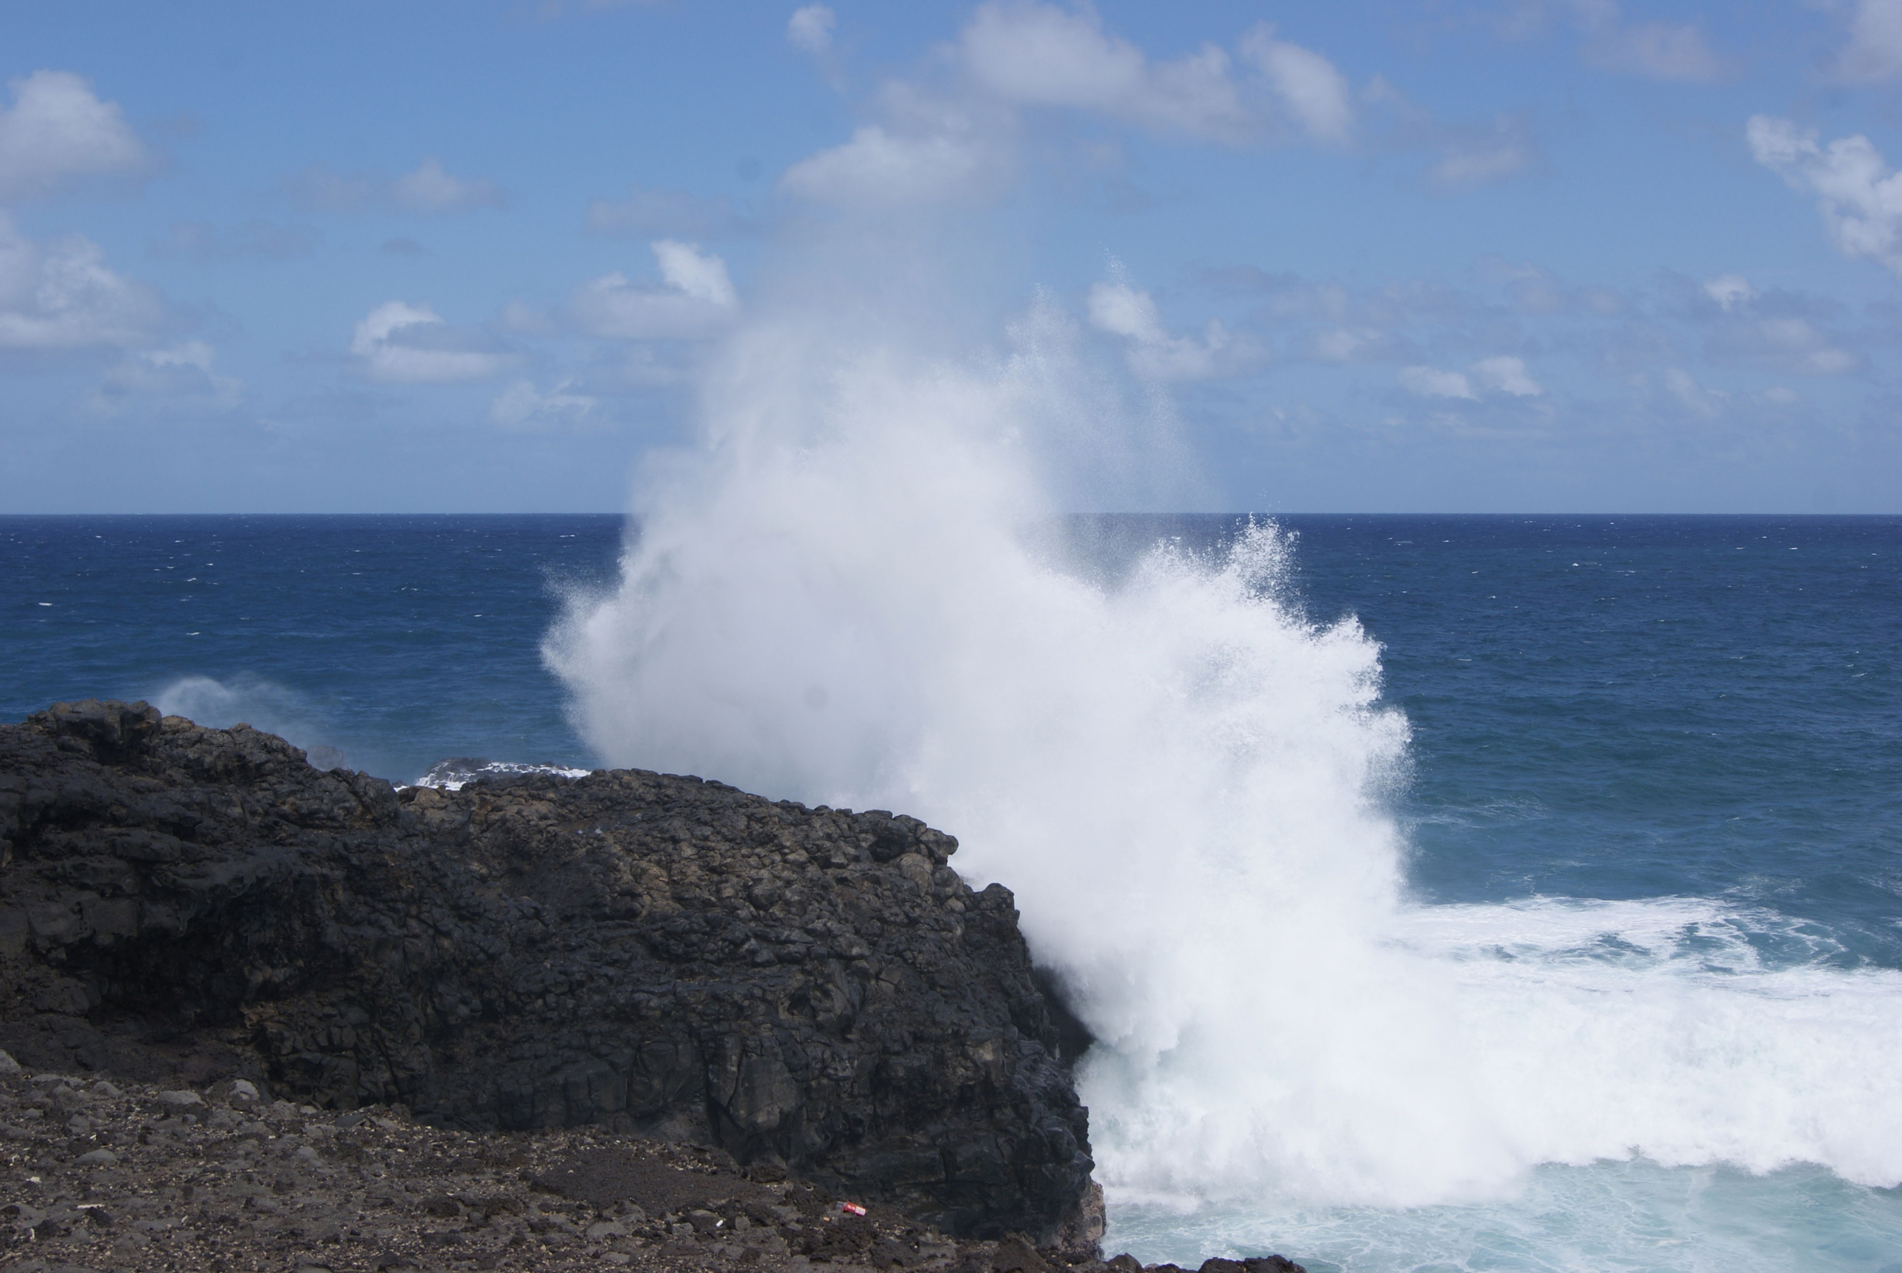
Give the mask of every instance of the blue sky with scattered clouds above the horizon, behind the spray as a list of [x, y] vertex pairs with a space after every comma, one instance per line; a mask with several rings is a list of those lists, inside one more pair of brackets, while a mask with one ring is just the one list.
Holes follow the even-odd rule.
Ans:
[[1206, 508], [1902, 510], [1902, 0], [76, 0], [0, 72], [0, 512], [620, 510], [841, 225], [1071, 314]]

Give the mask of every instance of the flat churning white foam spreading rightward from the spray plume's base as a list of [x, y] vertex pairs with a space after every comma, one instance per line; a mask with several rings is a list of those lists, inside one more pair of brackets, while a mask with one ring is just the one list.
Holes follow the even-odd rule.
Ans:
[[1421, 1206], [1628, 1157], [1902, 1172], [1902, 1079], [1881, 1062], [1902, 1047], [1898, 972], [1767, 965], [1759, 942], [1790, 925], [1685, 898], [1383, 927], [1364, 976], [1318, 970], [1318, 1001], [1265, 986], [1156, 1064], [1090, 1056], [1124, 1197]]

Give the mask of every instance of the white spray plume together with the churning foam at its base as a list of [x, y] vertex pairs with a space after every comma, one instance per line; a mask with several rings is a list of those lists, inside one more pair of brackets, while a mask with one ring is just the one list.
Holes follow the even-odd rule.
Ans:
[[1084, 582], [1018, 527], [1065, 455], [1135, 443], [1115, 413], [1092, 443], [1061, 348], [824, 331], [734, 337], [548, 662], [611, 763], [955, 832], [1099, 1039], [1113, 1197], [1446, 1204], [1632, 1155], [1902, 1180], [1902, 974], [1765, 961], [1775, 925], [1700, 900], [1409, 906], [1406, 721], [1354, 622], [1282, 603], [1284, 537]]

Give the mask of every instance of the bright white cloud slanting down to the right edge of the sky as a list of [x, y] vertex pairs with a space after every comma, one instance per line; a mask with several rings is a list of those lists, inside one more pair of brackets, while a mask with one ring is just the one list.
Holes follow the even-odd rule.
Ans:
[[1856, 133], [1820, 147], [1815, 129], [1767, 114], [1750, 116], [1746, 137], [1757, 164], [1816, 196], [1837, 249], [1902, 274], [1902, 173], [1889, 171], [1868, 137]]

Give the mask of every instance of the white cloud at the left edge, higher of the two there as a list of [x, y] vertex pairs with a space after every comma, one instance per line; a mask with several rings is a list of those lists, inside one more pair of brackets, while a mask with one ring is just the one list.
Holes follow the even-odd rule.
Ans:
[[0, 202], [40, 198], [76, 181], [146, 171], [146, 152], [118, 103], [99, 101], [68, 70], [13, 80], [13, 107], [0, 110]]

